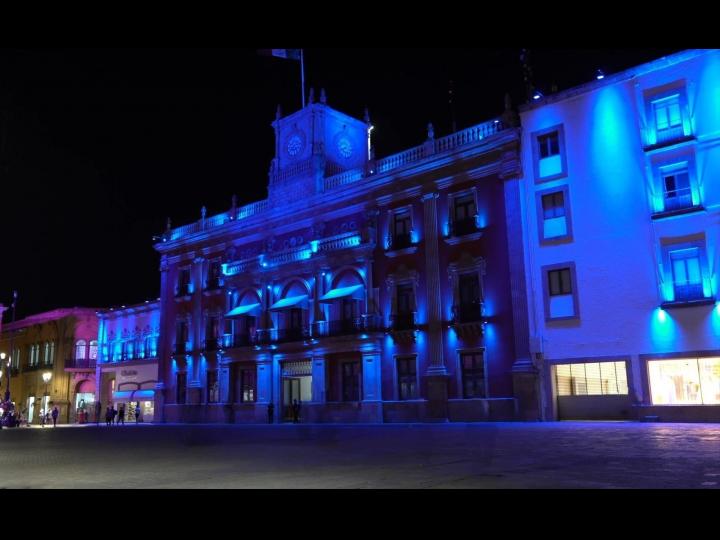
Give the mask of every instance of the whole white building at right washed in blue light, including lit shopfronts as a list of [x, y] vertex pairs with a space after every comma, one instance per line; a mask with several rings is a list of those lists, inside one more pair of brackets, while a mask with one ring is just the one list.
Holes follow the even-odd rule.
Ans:
[[720, 420], [720, 52], [521, 108], [547, 419]]

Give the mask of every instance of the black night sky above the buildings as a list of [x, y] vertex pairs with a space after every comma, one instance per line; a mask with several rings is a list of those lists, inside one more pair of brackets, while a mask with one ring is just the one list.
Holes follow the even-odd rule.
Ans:
[[[678, 49], [531, 49], [548, 93]], [[378, 157], [525, 101], [520, 49], [307, 49], [307, 85], [362, 117]], [[0, 302], [18, 318], [159, 296], [152, 236], [267, 195], [270, 123], [300, 104], [299, 65], [255, 49], [0, 50]], [[319, 94], [319, 92], [317, 93]], [[9, 320], [6, 315], [5, 320]]]

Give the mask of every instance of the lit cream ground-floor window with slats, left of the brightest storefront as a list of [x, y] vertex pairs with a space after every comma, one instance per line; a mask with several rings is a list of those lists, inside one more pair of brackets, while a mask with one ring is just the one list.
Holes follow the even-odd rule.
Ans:
[[558, 396], [627, 395], [625, 362], [561, 364], [555, 366]]

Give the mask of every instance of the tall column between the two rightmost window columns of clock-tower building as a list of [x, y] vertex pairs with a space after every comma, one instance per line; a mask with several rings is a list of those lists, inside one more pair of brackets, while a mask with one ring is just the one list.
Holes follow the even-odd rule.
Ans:
[[443, 355], [440, 254], [438, 249], [437, 193], [423, 195], [425, 228], [425, 279], [427, 283], [427, 380], [428, 420], [447, 421], [448, 373]]

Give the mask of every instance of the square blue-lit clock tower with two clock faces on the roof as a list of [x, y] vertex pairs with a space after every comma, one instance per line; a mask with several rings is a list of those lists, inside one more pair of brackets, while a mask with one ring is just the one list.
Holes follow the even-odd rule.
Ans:
[[362, 168], [369, 158], [370, 125], [327, 105], [323, 90], [319, 103], [282, 118], [275, 130], [275, 158], [270, 168], [269, 197], [282, 204], [322, 193], [324, 179]]

